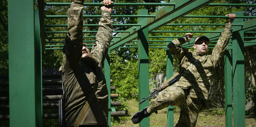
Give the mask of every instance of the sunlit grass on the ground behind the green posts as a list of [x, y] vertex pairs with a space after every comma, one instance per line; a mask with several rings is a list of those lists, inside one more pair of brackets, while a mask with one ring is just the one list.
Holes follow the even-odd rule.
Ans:
[[[138, 102], [135, 99], [127, 100], [128, 115], [118, 117], [118, 121], [114, 121], [113, 117], [111, 127], [139, 127], [139, 124], [133, 124], [131, 117], [133, 113], [139, 110]], [[180, 109], [174, 107], [174, 125], [179, 120]], [[246, 127], [256, 127], [256, 115], [246, 114]], [[233, 125], [234, 126], [234, 125]], [[166, 108], [158, 111], [158, 114], [153, 113], [150, 116], [150, 127], [167, 127], [167, 113]], [[202, 111], [197, 119], [196, 127], [225, 127], [225, 111], [223, 109]]]

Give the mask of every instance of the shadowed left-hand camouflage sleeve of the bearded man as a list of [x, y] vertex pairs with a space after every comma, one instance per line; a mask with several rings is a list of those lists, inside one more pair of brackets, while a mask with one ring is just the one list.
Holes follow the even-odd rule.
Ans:
[[[67, 9], [67, 35], [63, 47], [62, 69], [74, 68], [81, 62], [83, 44], [83, 0], [72, 0]], [[67, 62], [69, 63], [68, 65]]]

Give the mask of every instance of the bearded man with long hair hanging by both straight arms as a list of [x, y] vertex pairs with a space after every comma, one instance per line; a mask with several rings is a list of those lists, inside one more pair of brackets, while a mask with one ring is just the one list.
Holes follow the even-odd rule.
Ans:
[[[104, 5], [113, 4], [104, 0]], [[102, 17], [91, 53], [83, 43], [84, 0], [72, 0], [68, 10], [68, 30], [59, 69], [65, 88], [67, 127], [75, 125], [83, 106], [95, 88], [90, 107], [82, 119], [82, 127], [106, 127], [108, 124], [108, 90], [102, 66], [112, 39], [113, 6], [101, 6]]]

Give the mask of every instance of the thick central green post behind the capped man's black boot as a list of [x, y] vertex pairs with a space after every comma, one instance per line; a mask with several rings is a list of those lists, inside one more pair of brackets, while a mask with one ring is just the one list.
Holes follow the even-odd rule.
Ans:
[[[138, 15], [147, 15], [147, 9], [139, 9]], [[138, 22], [144, 18], [138, 18]], [[148, 72], [148, 27], [138, 32], [138, 70], [139, 70], [139, 101], [149, 95]], [[149, 101], [139, 104], [139, 111], [149, 105]], [[144, 118], [139, 127], [149, 127], [149, 117]]]

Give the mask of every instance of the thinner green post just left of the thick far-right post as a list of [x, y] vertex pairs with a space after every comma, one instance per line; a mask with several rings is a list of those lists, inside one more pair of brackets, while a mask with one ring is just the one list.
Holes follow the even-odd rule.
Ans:
[[231, 50], [225, 51], [224, 54], [224, 72], [225, 72], [225, 126], [233, 126], [232, 117], [232, 67], [231, 67]]

